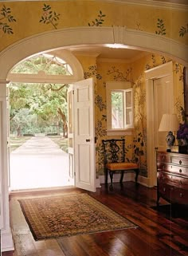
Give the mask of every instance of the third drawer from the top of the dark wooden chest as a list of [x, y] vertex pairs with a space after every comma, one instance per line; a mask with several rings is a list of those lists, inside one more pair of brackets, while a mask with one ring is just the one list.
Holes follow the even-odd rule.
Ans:
[[170, 186], [180, 187], [185, 190], [188, 190], [188, 179], [186, 177], [170, 175], [166, 172], [161, 171], [161, 172], [158, 172], [157, 181], [158, 181], [158, 184], [166, 183]]

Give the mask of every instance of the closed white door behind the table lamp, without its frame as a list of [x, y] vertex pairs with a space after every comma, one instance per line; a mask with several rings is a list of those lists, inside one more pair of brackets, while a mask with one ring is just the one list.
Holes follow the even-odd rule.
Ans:
[[159, 151], [166, 151], [167, 132], [159, 132], [159, 125], [164, 113], [170, 114], [174, 112], [173, 98], [172, 76], [156, 79], [154, 81], [155, 148]]

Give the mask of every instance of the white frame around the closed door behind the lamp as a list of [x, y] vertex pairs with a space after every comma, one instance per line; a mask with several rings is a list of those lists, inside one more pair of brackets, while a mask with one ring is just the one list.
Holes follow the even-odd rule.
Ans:
[[[154, 81], [162, 77], [171, 76], [173, 81], [173, 62], [167, 62], [153, 69], [145, 71], [146, 78], [146, 102], [147, 102], [147, 186], [155, 186], [155, 104]], [[174, 99], [171, 99], [174, 102]], [[173, 104], [172, 102], [172, 104]], [[174, 104], [173, 104], [174, 105]]]

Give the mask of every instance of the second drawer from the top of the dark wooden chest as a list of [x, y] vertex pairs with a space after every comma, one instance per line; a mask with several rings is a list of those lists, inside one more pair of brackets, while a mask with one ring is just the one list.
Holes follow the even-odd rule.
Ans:
[[188, 178], [188, 167], [182, 167], [166, 163], [157, 163], [157, 169], [158, 171], [168, 171], [175, 175], [187, 176]]

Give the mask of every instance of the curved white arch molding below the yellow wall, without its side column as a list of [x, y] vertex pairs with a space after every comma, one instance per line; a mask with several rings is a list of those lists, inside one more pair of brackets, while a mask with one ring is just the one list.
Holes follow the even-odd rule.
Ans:
[[[119, 43], [130, 49], [165, 54], [182, 65], [188, 66], [188, 46], [162, 37], [155, 33], [141, 30], [128, 30], [125, 27], [76, 27], [52, 30], [35, 34], [10, 45], [0, 53], [0, 80], [7, 78], [8, 73], [27, 57], [53, 49], [69, 49], [73, 45], [106, 45]], [[78, 77], [79, 80], [83, 77]]]

